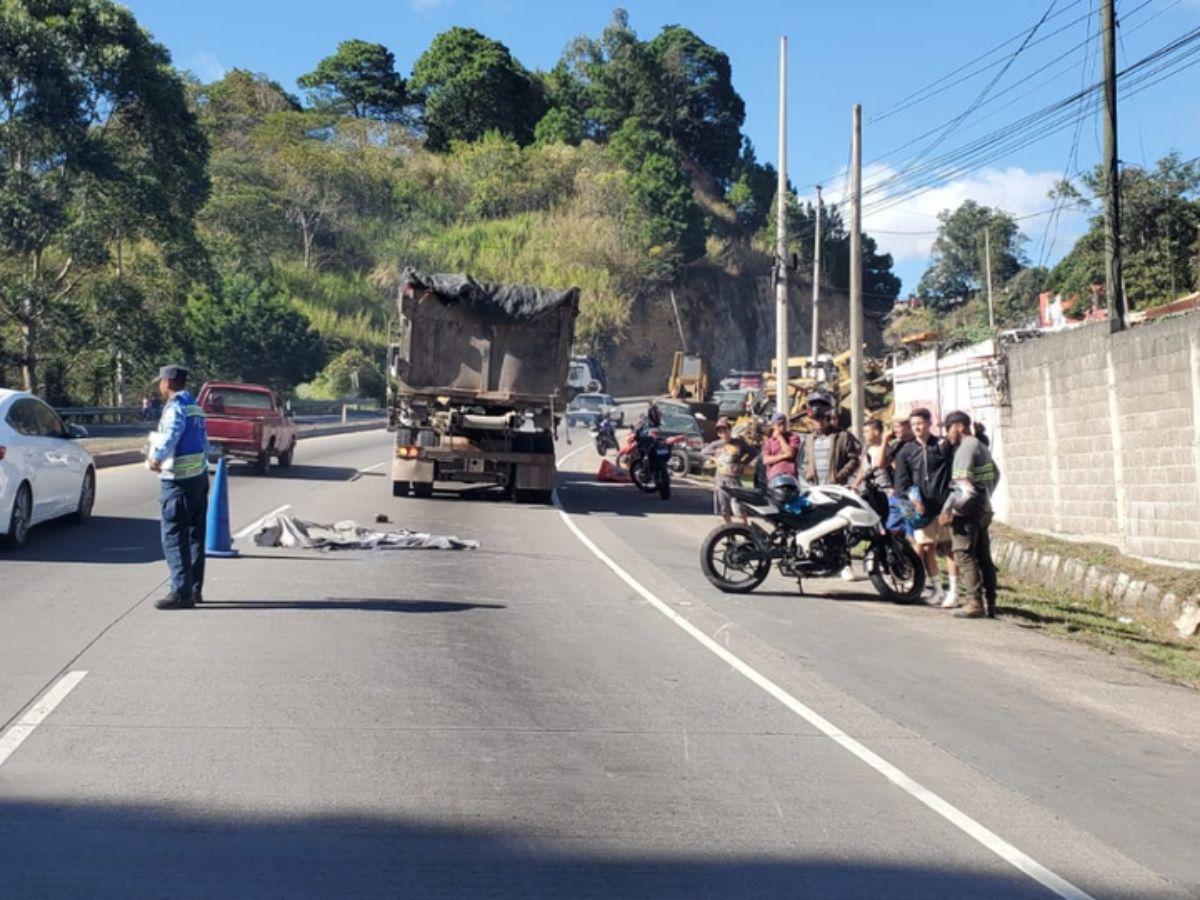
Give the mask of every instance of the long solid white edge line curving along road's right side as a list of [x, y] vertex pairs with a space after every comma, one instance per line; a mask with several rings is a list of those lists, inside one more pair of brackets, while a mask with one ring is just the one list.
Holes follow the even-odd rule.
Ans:
[[725, 647], [721, 647], [716, 641], [706, 635], [701, 629], [696, 628], [691, 622], [685, 619], [683, 616], [672, 610], [667, 604], [660, 600], [655, 594], [653, 594], [648, 588], [646, 588], [641, 582], [638, 582], [632, 575], [626, 572], [616, 563], [612, 557], [605, 553], [595, 542], [588, 538], [574, 520], [566, 514], [566, 511], [558, 503], [558, 497], [554, 497], [554, 503], [558, 506], [558, 515], [562, 517], [563, 522], [571, 533], [580, 539], [580, 542], [587, 547], [592, 556], [604, 563], [612, 572], [625, 582], [630, 588], [642, 596], [650, 606], [666, 616], [671, 622], [682, 628], [692, 638], [696, 640], [704, 649], [715, 654], [721, 661], [732, 666], [734, 670], [740, 672], [743, 676], [749, 678], [754, 684], [764, 690], [772, 697], [778, 700], [785, 707], [791, 709], [798, 716], [804, 719], [809, 725], [820, 731], [827, 738], [834, 743], [841, 745], [844, 750], [857, 756], [859, 760], [865, 762], [877, 773], [883, 775], [888, 781], [894, 784], [905, 793], [910, 794], [914, 799], [925, 804], [929, 809], [934, 810], [937, 815], [944, 818], [947, 822], [953, 824], [955, 828], [965, 832], [967, 835], [973, 838], [976, 841], [982, 844], [984, 847], [990, 850], [992, 853], [998, 856], [1009, 865], [1028, 875], [1033, 881], [1042, 884], [1048, 890], [1054, 892], [1063, 900], [1092, 900], [1092, 898], [1081, 890], [1080, 888], [1072, 884], [1066, 878], [1055, 875], [1052, 871], [1046, 869], [1044, 865], [1038, 863], [1032, 857], [1022, 853], [1020, 850], [1014, 847], [1012, 844], [1006, 841], [1003, 838], [994, 832], [990, 832], [984, 826], [976, 822], [971, 816], [968, 816], [962, 810], [952, 805], [947, 800], [942, 799], [938, 794], [930, 791], [928, 787], [920, 782], [913, 780], [904, 772], [898, 769], [890, 762], [884, 760], [882, 756], [870, 750], [865, 745], [860, 744], [854, 738], [846, 734], [841, 728], [830, 722], [823, 715], [817, 713], [815, 709], [802, 703], [794, 696], [788, 694], [786, 690], [780, 688], [773, 680], [767, 678], [764, 674], [754, 668], [749, 662], [745, 662], [739, 656], [731, 653]]

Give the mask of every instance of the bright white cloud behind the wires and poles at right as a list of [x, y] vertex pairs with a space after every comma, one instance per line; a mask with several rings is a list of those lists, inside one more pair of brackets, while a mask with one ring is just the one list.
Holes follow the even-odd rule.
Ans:
[[[1200, 0], [1198, 0], [1200, 2]], [[995, 206], [1021, 218], [1018, 224], [1028, 236], [1026, 253], [1032, 262], [1038, 262], [1042, 239], [1050, 216], [1033, 216], [1051, 209], [1054, 202], [1048, 193], [1062, 179], [1058, 172], [1028, 172], [1019, 166], [1004, 169], [983, 169], [979, 173], [950, 181], [925, 193], [898, 200], [895, 206], [887, 208], [886, 192], [869, 193], [875, 184], [886, 181], [895, 174], [895, 169], [886, 166], [866, 167], [863, 172], [864, 185], [864, 230], [876, 239], [882, 252], [892, 253], [896, 263], [923, 263], [929, 259], [937, 230], [937, 214], [955, 209], [964, 200], [974, 200], [984, 206]], [[826, 203], [841, 203], [846, 193], [845, 178], [839, 178], [823, 191]], [[811, 200], [815, 193], [802, 199]], [[876, 206], [875, 211], [871, 206]], [[845, 210], [844, 210], [845, 215]], [[1048, 241], [1052, 246], [1046, 251], [1050, 260], [1056, 260], [1074, 241], [1084, 234], [1087, 216], [1078, 211], [1062, 212], [1057, 222], [1051, 224]]]

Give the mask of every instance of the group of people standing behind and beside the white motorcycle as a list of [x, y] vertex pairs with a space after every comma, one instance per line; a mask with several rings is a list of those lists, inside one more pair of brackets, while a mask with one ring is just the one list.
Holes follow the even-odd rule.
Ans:
[[[727, 419], [718, 421], [716, 440], [704, 451], [716, 464], [713, 511], [726, 522], [745, 521], [721, 487], [740, 487], [751, 467], [764, 482], [797, 475], [810, 485], [860, 490], [870, 480], [889, 498], [889, 529], [905, 532], [925, 566], [925, 601], [954, 610], [960, 618], [994, 616], [996, 566], [988, 532], [1000, 470], [983, 426], [953, 412], [943, 419], [942, 433], [935, 434], [932, 414], [918, 408], [898, 418], [890, 436], [883, 422], [869, 420], [859, 440], [844, 427], [833, 403], [815, 401], [808, 410], [814, 431], [793, 432], [787, 416], [778, 413], [761, 454], [733, 434]], [[944, 587], [940, 556], [946, 559]]]

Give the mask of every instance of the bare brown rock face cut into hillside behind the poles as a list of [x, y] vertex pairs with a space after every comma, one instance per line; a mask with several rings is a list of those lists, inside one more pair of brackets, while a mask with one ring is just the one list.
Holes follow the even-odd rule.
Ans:
[[[719, 379], [731, 368], [763, 372], [775, 355], [775, 300], [769, 274], [731, 275], [712, 265], [688, 269], [674, 289], [688, 349], [708, 360]], [[793, 278], [788, 334], [792, 353], [811, 347], [812, 284]], [[883, 348], [882, 317], [890, 302], [866, 299], [863, 330], [870, 353]], [[848, 346], [850, 299], [846, 292], [821, 292], [822, 349], [840, 353]], [[671, 359], [679, 346], [679, 329], [666, 290], [634, 301], [625, 341], [613, 348], [605, 365], [613, 394], [648, 395], [666, 390]]]

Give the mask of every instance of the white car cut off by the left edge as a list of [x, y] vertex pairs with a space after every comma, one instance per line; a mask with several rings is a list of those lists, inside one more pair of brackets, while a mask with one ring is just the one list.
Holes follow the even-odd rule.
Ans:
[[85, 522], [96, 503], [96, 464], [50, 407], [0, 388], [0, 546], [19, 547], [38, 522]]

